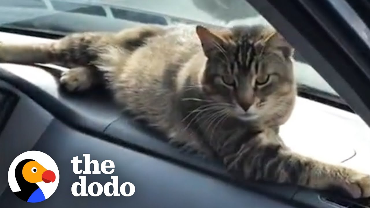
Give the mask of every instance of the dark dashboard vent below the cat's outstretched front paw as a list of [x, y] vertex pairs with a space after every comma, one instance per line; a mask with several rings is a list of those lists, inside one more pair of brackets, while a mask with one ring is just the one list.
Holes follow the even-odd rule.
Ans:
[[370, 208], [370, 199], [347, 199], [344, 197], [321, 197], [329, 204], [335, 204], [340, 208]]

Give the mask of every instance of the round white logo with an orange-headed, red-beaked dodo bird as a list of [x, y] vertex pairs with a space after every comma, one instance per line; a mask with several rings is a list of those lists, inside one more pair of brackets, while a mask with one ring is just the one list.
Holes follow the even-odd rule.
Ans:
[[18, 198], [26, 202], [40, 202], [57, 189], [59, 170], [49, 155], [28, 151], [18, 155], [11, 163], [8, 182]]

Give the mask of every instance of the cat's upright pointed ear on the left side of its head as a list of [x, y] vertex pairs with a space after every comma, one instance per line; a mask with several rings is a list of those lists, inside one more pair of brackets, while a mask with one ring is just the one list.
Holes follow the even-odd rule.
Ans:
[[224, 41], [207, 28], [200, 25], [196, 26], [196, 34], [201, 41], [204, 54], [207, 57], [211, 56], [212, 51], [222, 50]]

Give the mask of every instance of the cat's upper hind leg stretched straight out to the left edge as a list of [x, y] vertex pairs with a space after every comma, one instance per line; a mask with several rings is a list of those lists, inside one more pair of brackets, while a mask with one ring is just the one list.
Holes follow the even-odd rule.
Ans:
[[111, 33], [74, 33], [50, 43], [0, 44], [0, 62], [14, 64], [51, 63], [65, 67], [87, 66], [100, 49], [111, 44]]

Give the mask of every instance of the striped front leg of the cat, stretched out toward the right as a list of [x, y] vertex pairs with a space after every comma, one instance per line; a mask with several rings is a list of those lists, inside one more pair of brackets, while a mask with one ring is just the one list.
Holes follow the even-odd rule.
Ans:
[[252, 180], [322, 190], [339, 188], [353, 198], [370, 197], [370, 175], [299, 155], [278, 143], [270, 143], [265, 134], [249, 140], [224, 162]]

